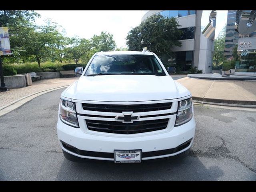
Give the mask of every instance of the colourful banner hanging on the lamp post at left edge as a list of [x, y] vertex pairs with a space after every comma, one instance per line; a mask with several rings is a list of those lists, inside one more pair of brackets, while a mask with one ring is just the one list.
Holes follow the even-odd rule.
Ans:
[[8, 27], [0, 27], [0, 55], [11, 55]]

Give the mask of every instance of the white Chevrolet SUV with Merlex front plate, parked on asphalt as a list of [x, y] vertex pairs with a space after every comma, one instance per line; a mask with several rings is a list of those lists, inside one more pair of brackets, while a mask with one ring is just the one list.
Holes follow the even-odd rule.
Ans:
[[137, 163], [192, 145], [192, 96], [152, 52], [98, 52], [60, 98], [58, 139], [69, 160]]

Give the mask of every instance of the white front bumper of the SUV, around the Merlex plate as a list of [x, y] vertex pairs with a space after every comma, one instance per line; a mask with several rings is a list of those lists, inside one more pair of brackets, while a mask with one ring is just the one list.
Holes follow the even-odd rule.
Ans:
[[[175, 156], [188, 150], [193, 142], [196, 123], [192, 120], [169, 132], [152, 134], [86, 134], [80, 128], [57, 123], [62, 150], [80, 158], [114, 161], [114, 150], [142, 150], [142, 160]], [[62, 142], [61, 142], [62, 141]], [[112, 155], [113, 154], [113, 155]]]

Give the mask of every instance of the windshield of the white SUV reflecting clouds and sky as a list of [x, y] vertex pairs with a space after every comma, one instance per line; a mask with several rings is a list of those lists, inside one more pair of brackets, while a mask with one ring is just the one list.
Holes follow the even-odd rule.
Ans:
[[165, 76], [153, 55], [96, 55], [85, 75], [142, 74]]

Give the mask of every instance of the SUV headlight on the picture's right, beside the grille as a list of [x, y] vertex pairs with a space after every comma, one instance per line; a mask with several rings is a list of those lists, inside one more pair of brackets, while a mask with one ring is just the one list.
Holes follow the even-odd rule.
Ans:
[[178, 114], [176, 117], [175, 126], [180, 126], [180, 125], [190, 121], [192, 119], [192, 117], [193, 117], [192, 98], [179, 101]]

